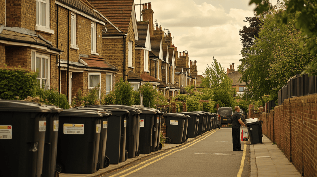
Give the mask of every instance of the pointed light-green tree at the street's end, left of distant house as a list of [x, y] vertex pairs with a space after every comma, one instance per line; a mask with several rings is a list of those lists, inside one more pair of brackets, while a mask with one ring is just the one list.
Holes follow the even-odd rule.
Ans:
[[[227, 76], [226, 71], [221, 67], [220, 62], [213, 57], [214, 63], [207, 65], [202, 86], [205, 93], [213, 94], [210, 100], [221, 102], [225, 107], [232, 107], [236, 90], [232, 88], [232, 80]], [[211, 91], [212, 90], [212, 91]]]

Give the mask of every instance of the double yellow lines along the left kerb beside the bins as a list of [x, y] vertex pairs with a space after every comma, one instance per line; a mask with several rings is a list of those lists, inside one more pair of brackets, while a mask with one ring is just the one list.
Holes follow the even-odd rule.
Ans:
[[[128, 169], [126, 169], [126, 170], [123, 170], [123, 171], [121, 171], [121, 172], [119, 172], [119, 173], [117, 173], [117, 174], [113, 174], [113, 175], [111, 175], [111, 176], [109, 176], [109, 177], [114, 177], [114, 176], [118, 176], [118, 175], [120, 175], [120, 174], [123, 174], [123, 173], [125, 173], [125, 172], [127, 172], [127, 171], [129, 171], [129, 170], [131, 170], [131, 169], [133, 169], [133, 168], [136, 168], [136, 167], [138, 167], [138, 166], [140, 166], [140, 165], [143, 165], [144, 163], [147, 163], [148, 161], [151, 161], [151, 160], [153, 160], [154, 158], [163, 156], [163, 155], [165, 155], [166, 153], [169, 153], [169, 152], [171, 152], [171, 151], [173, 151], [173, 150], [176, 150], [176, 151], [171, 152], [170, 154], [168, 154], [168, 155], [166, 155], [166, 156], [169, 156], [169, 155], [171, 155], [171, 154], [174, 154], [174, 153], [177, 152], [177, 151], [184, 150], [184, 149], [186, 149], [186, 148], [188, 148], [188, 147], [191, 147], [192, 145], [198, 143], [199, 141], [205, 139], [206, 137], [209, 137], [211, 134], [213, 134], [213, 133], [216, 132], [216, 131], [217, 131], [217, 129], [211, 131], [209, 135], [205, 135], [204, 138], [198, 137], [196, 140], [193, 140], [192, 142], [189, 142], [189, 143], [184, 144], [184, 146], [185, 146], [185, 145], [188, 145], [188, 146], [185, 147], [185, 148], [183, 148], [183, 149], [180, 149], [181, 147], [178, 147], [178, 148], [169, 150], [169, 151], [167, 151], [167, 152], [165, 152], [165, 153], [162, 153], [162, 154], [160, 154], [160, 155], [158, 155], [158, 156], [155, 156], [155, 157], [153, 157], [153, 158], [151, 158], [151, 159], [148, 159], [148, 160], [146, 160], [146, 161], [144, 161], [144, 162], [139, 163], [138, 165], [135, 165], [135, 166], [133, 166], [133, 167], [131, 167], [131, 168], [128, 168]], [[199, 140], [199, 141], [198, 141], [198, 140]], [[179, 150], [177, 150], [177, 149], [179, 149]], [[133, 171], [127, 173], [127, 174], [121, 175], [121, 176], [124, 177], [124, 176], [127, 176], [127, 175], [129, 175], [129, 174], [132, 174], [132, 173], [134, 173], [134, 172], [137, 172], [137, 171], [139, 171], [140, 169], [142, 169], [142, 168], [144, 168], [144, 167], [146, 167], [146, 166], [148, 166], [148, 165], [150, 165], [150, 164], [152, 164], [152, 163], [154, 163], [154, 162], [157, 162], [157, 161], [159, 161], [159, 160], [165, 158], [166, 156], [163, 156], [163, 157], [161, 157], [161, 158], [159, 158], [159, 159], [157, 159], [157, 160], [155, 160], [155, 161], [149, 162], [149, 163], [147, 163], [146, 165], [144, 165], [144, 166], [142, 166], [142, 167], [139, 167], [139, 168], [137, 168], [137, 169], [135, 169], [135, 170], [133, 170]]]

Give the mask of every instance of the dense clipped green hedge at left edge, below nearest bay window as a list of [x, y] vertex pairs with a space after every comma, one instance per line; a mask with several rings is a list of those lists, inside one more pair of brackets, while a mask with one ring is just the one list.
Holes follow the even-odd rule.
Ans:
[[35, 96], [37, 72], [25, 68], [0, 67], [0, 98], [20, 100]]

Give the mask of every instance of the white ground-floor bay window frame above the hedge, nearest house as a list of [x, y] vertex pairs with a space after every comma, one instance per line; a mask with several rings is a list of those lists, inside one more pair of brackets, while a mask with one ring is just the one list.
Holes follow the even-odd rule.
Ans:
[[[36, 79], [39, 81], [40, 87], [43, 85], [43, 81], [45, 81], [44, 89], [49, 90], [50, 89], [50, 55], [31, 51], [31, 69], [33, 71], [36, 71], [36, 59], [40, 60], [39, 63], [39, 73], [36, 76]], [[44, 59], [44, 61], [43, 61]], [[44, 64], [44, 70], [46, 70], [45, 76], [43, 76], [43, 64]]]

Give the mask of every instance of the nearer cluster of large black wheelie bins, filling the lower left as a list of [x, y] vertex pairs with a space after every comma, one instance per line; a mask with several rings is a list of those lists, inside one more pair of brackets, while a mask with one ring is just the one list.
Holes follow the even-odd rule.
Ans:
[[[123, 105], [61, 109], [0, 100], [0, 176], [92, 174], [162, 148], [163, 112]], [[5, 159], [5, 160], [4, 160]]]

